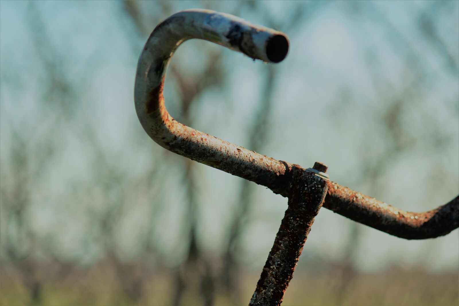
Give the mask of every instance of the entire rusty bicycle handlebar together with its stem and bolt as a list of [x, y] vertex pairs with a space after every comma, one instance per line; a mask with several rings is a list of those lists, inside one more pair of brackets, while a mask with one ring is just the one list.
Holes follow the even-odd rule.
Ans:
[[[280, 62], [288, 52], [285, 34], [254, 26], [241, 18], [208, 10], [185, 10], [168, 17], [151, 33], [140, 55], [135, 78], [137, 115], [159, 145], [208, 166], [268, 187], [289, 198], [274, 246], [250, 305], [279, 305], [323, 205], [344, 217], [405, 239], [427, 239], [459, 227], [459, 196], [424, 213], [402, 211], [328, 181], [326, 166], [308, 170], [278, 161], [174, 120], [164, 105], [168, 63], [188, 39], [205, 39], [266, 62]], [[312, 172], [311, 172], [312, 171]]]

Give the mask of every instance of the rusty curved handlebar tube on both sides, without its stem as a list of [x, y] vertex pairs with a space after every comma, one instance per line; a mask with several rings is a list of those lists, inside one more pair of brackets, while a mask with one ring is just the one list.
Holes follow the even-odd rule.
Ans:
[[[162, 95], [166, 68], [177, 47], [205, 39], [254, 59], [280, 62], [288, 52], [285, 34], [209, 10], [180, 11], [151, 33], [139, 58], [134, 100], [146, 133], [162, 147], [208, 166], [253, 181], [288, 197], [293, 172], [303, 168], [277, 161], [187, 127], [172, 118]], [[424, 213], [399, 210], [330, 182], [323, 205], [359, 223], [405, 239], [445, 235], [459, 226], [459, 197]]]

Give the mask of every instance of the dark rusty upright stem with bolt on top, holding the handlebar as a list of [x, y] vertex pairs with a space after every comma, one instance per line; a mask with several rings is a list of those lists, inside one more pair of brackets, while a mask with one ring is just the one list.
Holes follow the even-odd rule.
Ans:
[[288, 208], [249, 306], [278, 306], [293, 277], [309, 231], [328, 190], [327, 167], [316, 162], [292, 180]]

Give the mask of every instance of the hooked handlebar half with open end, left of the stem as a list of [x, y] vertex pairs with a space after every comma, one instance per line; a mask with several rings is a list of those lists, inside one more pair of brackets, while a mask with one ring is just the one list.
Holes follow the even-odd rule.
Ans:
[[185, 10], [168, 17], [151, 33], [137, 65], [134, 100], [142, 127], [154, 141], [174, 153], [280, 193], [276, 188], [282, 190], [287, 163], [187, 127], [166, 110], [162, 95], [166, 68], [177, 47], [194, 38], [266, 62], [282, 61], [289, 48], [285, 34], [229, 14]]

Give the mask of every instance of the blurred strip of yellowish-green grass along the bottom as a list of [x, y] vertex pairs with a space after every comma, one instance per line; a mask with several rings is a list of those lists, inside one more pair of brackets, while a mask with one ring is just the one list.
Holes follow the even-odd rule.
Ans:
[[[96, 305], [170, 305], [173, 289], [173, 273], [162, 269], [146, 271], [142, 282], [143, 294], [135, 300], [126, 294], [113, 269], [108, 265], [73, 267], [57, 273], [50, 267], [37, 269], [42, 286], [41, 299], [32, 303], [28, 290], [15, 270], [7, 265], [0, 269], [0, 305], [22, 306], [96, 306]], [[393, 267], [383, 273], [356, 273], [345, 280], [347, 290], [336, 296], [340, 278], [336, 273], [311, 273], [297, 271], [286, 291], [282, 306], [453, 306], [459, 305], [459, 278], [457, 271], [429, 273], [421, 268], [404, 270]], [[258, 273], [241, 276], [241, 301], [247, 305], [255, 288]], [[182, 305], [202, 305], [198, 278], [190, 275]], [[229, 296], [215, 284], [217, 291], [214, 305], [232, 305]]]

